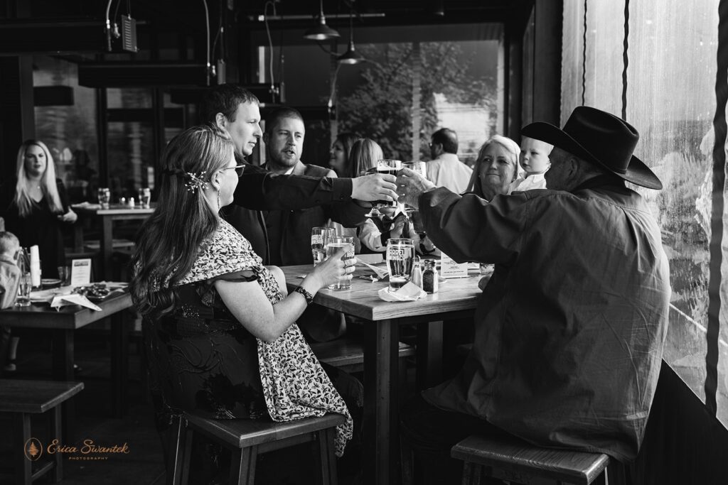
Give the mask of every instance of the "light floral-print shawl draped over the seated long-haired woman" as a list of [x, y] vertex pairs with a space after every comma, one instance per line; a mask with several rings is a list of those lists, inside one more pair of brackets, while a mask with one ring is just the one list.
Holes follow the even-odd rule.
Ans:
[[[215, 306], [224, 308], [223, 302], [215, 291], [213, 282], [216, 279], [236, 280], [237, 278], [242, 278], [244, 281], [257, 279], [258, 284], [261, 285], [266, 297], [272, 304], [280, 302], [284, 297], [275, 277], [264, 267], [261, 258], [253, 252], [248, 240], [238, 233], [232, 225], [221, 220], [220, 228], [215, 236], [207, 241], [189, 274], [178, 284], [178, 288], [184, 288], [185, 286], [197, 287], [203, 305], [211, 308]], [[200, 287], [207, 290], [199, 291]], [[189, 300], [181, 299], [178, 301], [189, 305]], [[180, 305], [179, 308], [175, 309], [174, 314], [178, 329], [189, 327], [189, 324], [193, 324], [193, 329], [196, 328], [194, 326], [196, 317], [194, 312], [199, 310], [186, 308], [186, 305]], [[219, 318], [215, 318], [215, 320], [220, 321]], [[183, 325], [185, 321], [186, 325]], [[237, 323], [237, 326], [239, 330], [244, 330], [239, 323]], [[224, 325], [222, 328], [225, 332], [232, 330], [226, 329]], [[240, 335], [231, 336], [240, 340]], [[219, 349], [215, 347], [210, 346], [209, 352], [217, 352]], [[235, 348], [232, 350], [233, 353], [236, 353]], [[296, 324], [291, 325], [274, 342], [267, 343], [258, 340], [257, 354], [258, 372], [264, 401], [272, 420], [296, 420], [303, 417], [323, 416], [327, 412], [344, 414], [347, 417], [346, 422], [336, 429], [336, 454], [341, 456], [344, 453], [347, 441], [352, 438], [352, 418], [346, 404], [344, 404], [344, 400], [333, 387], [331, 380], [329, 380], [318, 359], [304, 340], [298, 326]], [[205, 356], [203, 356], [204, 359]], [[216, 379], [220, 380], [221, 377], [217, 376]], [[255, 388], [256, 386], [248, 384], [248, 387]], [[246, 393], [248, 396], [251, 395], [250, 392], [246, 391]], [[199, 396], [199, 393], [197, 395]], [[199, 398], [197, 398], [197, 401], [199, 402]], [[254, 417], [256, 414], [254, 401], [249, 401], [246, 406], [249, 413], [246, 413], [248, 417]], [[216, 416], [222, 419], [242, 417], [234, 412], [226, 414], [226, 412], [220, 410], [216, 412]]]

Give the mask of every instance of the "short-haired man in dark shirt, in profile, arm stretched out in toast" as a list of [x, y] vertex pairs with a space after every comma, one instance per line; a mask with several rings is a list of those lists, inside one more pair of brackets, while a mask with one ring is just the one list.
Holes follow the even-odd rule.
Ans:
[[[236, 84], [210, 88], [200, 105], [201, 119], [226, 129], [235, 145], [235, 155], [244, 157], [262, 136], [258, 98]], [[322, 204], [378, 199], [395, 199], [397, 186], [391, 175], [331, 178], [299, 175], [274, 175], [261, 167], [245, 163], [245, 171], [235, 190], [234, 204], [223, 209], [223, 217], [243, 236], [253, 250], [269, 264], [269, 241], [262, 210], [296, 210]]]

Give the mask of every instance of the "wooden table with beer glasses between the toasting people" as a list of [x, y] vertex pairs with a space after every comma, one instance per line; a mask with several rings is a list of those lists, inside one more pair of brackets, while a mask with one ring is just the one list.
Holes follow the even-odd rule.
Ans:
[[[301, 284], [313, 265], [285, 266], [285, 282], [290, 292]], [[440, 382], [442, 376], [443, 321], [472, 318], [477, 300], [480, 273], [472, 270], [465, 278], [440, 283], [440, 290], [415, 302], [386, 302], [378, 291], [387, 281], [372, 282], [359, 276], [373, 274], [357, 270], [348, 290], [321, 289], [314, 304], [356, 316], [365, 321], [364, 334], [364, 449], [365, 483], [399, 482], [399, 327], [417, 326], [418, 388]]]

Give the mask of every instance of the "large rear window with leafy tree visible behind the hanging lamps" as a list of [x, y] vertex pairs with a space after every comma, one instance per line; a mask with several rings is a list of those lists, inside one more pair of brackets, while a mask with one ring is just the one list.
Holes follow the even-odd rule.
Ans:
[[[360, 28], [355, 39], [366, 59], [357, 65], [336, 65], [315, 45], [274, 47], [274, 78], [280, 76], [281, 52], [285, 59], [285, 103], [319, 108], [308, 111], [317, 121], [306, 119], [306, 163], [327, 164], [332, 131], [369, 137], [388, 158], [429, 160], [430, 135], [448, 127], [457, 132], [459, 157], [469, 164], [488, 137], [502, 133], [499, 25]], [[269, 81], [269, 49], [258, 53], [256, 74]], [[317, 140], [309, 141], [312, 136]]]

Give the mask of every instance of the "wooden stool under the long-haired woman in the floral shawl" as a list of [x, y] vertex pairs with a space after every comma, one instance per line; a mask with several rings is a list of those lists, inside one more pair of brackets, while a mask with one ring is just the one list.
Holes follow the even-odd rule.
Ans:
[[178, 439], [173, 450], [173, 473], [167, 484], [186, 485], [192, 440], [197, 434], [232, 452], [230, 484], [252, 485], [256, 475], [258, 454], [272, 452], [296, 444], [313, 442], [317, 450], [317, 473], [323, 485], [336, 485], [334, 457], [334, 428], [346, 420], [341, 414], [325, 414], [295, 421], [269, 420], [212, 420], [184, 413], [176, 423]]

